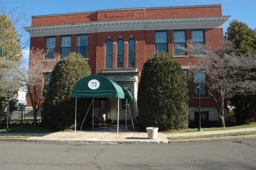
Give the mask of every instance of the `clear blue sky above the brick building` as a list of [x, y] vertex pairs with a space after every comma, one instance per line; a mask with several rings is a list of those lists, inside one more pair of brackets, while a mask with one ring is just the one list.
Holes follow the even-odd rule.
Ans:
[[[0, 0], [0, 5], [3, 4], [7, 11], [18, 7], [25, 11], [28, 18], [32, 15], [102, 9], [222, 4], [222, 15], [231, 15], [223, 26], [223, 32], [232, 19], [245, 22], [251, 29], [256, 29], [256, 0]], [[30, 24], [28, 22], [26, 26]]]

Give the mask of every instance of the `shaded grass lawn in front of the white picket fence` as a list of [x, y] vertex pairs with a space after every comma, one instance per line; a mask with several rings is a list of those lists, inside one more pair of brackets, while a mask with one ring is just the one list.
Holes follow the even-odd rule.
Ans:
[[[6, 124], [0, 125], [0, 134], [6, 133]], [[51, 132], [44, 126], [37, 124], [37, 126], [34, 128], [33, 124], [20, 124], [20, 125], [13, 125], [10, 124], [8, 126], [8, 133], [48, 133]]]

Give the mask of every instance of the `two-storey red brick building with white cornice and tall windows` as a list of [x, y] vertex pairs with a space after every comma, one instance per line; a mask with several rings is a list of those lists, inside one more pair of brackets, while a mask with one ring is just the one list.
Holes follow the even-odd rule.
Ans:
[[[176, 57], [187, 74], [187, 69], [196, 64], [196, 53], [185, 53], [175, 44], [186, 47], [186, 44], [204, 43], [217, 49], [222, 45], [222, 26], [228, 18], [222, 16], [220, 4], [141, 7], [32, 16], [31, 26], [25, 30], [31, 35], [30, 47], [51, 47], [44, 62], [79, 52], [92, 74], [104, 75], [130, 90], [134, 97], [130, 107], [135, 118], [137, 84], [147, 57], [156, 51], [166, 51]], [[47, 79], [50, 70], [42, 71]], [[190, 120], [198, 118], [195, 84], [201, 78], [206, 78], [203, 73], [194, 73], [194, 79], [188, 80]], [[218, 120], [215, 104], [203, 85], [200, 95], [202, 118]], [[116, 103], [116, 98], [98, 101], [96, 112], [109, 114], [116, 120]], [[31, 110], [29, 98], [26, 110]]]

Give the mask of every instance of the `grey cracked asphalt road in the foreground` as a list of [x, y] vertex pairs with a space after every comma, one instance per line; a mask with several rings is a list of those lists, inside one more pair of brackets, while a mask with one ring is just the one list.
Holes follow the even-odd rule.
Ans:
[[0, 169], [256, 169], [256, 139], [110, 145], [0, 142]]

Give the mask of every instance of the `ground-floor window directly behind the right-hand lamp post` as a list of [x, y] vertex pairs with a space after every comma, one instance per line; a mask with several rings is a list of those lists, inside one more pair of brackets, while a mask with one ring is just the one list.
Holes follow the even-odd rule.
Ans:
[[194, 95], [198, 95], [197, 85], [199, 84], [199, 93], [202, 96], [206, 96], [206, 77], [203, 72], [194, 72]]

